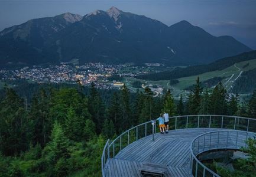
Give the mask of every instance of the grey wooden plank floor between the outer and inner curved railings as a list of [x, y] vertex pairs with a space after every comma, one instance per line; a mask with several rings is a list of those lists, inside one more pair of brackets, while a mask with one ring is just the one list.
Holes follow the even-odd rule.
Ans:
[[106, 176], [141, 176], [138, 168], [143, 163], [167, 166], [166, 176], [193, 176], [190, 169], [190, 144], [192, 140], [214, 128], [170, 130], [168, 133], [139, 139], [122, 149], [115, 158], [108, 159]]

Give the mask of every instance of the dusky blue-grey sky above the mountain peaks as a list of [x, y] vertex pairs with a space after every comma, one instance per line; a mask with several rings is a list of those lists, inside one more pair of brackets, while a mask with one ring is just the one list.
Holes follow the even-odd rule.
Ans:
[[166, 25], [186, 20], [215, 36], [231, 35], [256, 50], [256, 0], [0, 0], [0, 31], [33, 18], [116, 8]]

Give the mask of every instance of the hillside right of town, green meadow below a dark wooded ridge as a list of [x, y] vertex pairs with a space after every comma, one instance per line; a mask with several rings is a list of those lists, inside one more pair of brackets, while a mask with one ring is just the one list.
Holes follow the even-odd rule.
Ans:
[[188, 94], [193, 89], [196, 78], [199, 77], [202, 86], [208, 89], [223, 83], [230, 93], [249, 94], [256, 89], [256, 51], [243, 53], [234, 57], [223, 58], [208, 65], [196, 65], [186, 68], [176, 68], [130, 79], [148, 84], [160, 84], [172, 89], [176, 99], [180, 93]]

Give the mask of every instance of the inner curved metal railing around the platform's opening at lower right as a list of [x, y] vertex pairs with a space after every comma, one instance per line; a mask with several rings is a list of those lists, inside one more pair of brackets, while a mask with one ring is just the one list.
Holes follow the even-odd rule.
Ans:
[[220, 177], [216, 172], [203, 165], [197, 159], [197, 155], [208, 150], [240, 149], [242, 146], [247, 146], [245, 140], [249, 137], [255, 137], [255, 133], [239, 130], [219, 130], [197, 136], [190, 145], [190, 168], [192, 169], [193, 176]]

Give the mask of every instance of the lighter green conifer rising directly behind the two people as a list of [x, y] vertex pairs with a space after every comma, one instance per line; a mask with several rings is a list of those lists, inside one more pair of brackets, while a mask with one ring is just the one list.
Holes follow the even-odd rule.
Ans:
[[167, 90], [164, 95], [164, 105], [162, 112], [168, 113], [169, 116], [174, 116], [176, 110], [176, 106], [174, 104], [173, 95], [171, 94], [170, 89]]

